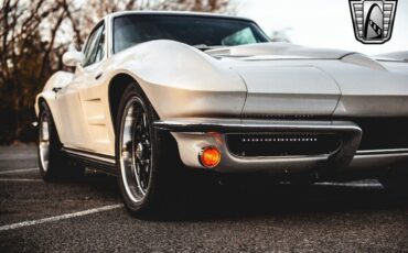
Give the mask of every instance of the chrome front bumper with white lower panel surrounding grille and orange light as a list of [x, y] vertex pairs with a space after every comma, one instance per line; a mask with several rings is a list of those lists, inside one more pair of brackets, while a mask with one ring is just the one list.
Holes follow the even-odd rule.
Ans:
[[[358, 146], [362, 130], [348, 121], [271, 121], [248, 119], [172, 119], [154, 123], [160, 130], [170, 131], [175, 138], [181, 160], [193, 168], [204, 168], [198, 161], [200, 152], [215, 146], [222, 153], [219, 173], [259, 172], [299, 173], [318, 167], [330, 169], [358, 169], [391, 166], [408, 161], [408, 150], [364, 151]], [[342, 144], [330, 154], [241, 157], [228, 150], [226, 135], [230, 133], [308, 132], [339, 133]]]

